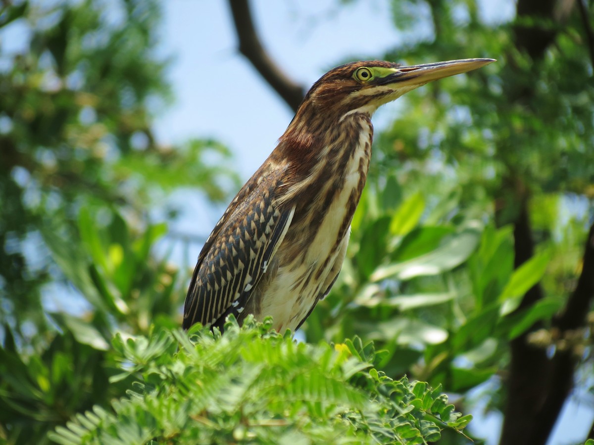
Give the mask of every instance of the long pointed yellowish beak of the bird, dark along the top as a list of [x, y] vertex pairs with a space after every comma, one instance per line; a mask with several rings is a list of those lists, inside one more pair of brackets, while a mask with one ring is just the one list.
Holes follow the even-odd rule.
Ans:
[[450, 77], [463, 72], [481, 68], [495, 59], [461, 59], [457, 61], [445, 61], [424, 63], [423, 65], [400, 66], [394, 74], [389, 75], [381, 83], [405, 85], [424, 85], [427, 82]]

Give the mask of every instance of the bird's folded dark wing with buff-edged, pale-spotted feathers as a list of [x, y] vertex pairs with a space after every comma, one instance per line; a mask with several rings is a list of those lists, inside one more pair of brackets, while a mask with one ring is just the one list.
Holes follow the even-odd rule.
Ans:
[[208, 237], [185, 300], [184, 329], [198, 322], [222, 325], [223, 316], [238, 317], [244, 310], [295, 212], [294, 206], [277, 205], [281, 174], [273, 171], [251, 189], [244, 187]]

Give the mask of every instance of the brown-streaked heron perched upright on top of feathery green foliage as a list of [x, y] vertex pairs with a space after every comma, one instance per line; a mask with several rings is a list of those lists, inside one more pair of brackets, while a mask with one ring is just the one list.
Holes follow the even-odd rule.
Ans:
[[371, 159], [371, 117], [427, 82], [495, 59], [337, 66], [309, 89], [276, 148], [229, 204], [198, 255], [182, 328], [271, 316], [299, 329], [330, 292]]

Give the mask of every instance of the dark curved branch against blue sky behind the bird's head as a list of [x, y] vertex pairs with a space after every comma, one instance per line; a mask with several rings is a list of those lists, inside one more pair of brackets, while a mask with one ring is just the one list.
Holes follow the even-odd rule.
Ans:
[[248, 0], [229, 0], [229, 8], [233, 14], [233, 23], [239, 39], [239, 52], [296, 112], [305, 96], [305, 88], [287, 77], [262, 46], [254, 28]]

